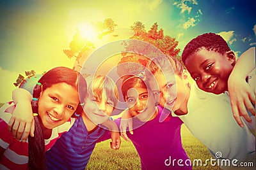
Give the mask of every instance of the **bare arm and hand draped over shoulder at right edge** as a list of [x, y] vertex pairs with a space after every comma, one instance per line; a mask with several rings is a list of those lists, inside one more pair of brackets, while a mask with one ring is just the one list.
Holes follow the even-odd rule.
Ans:
[[[246, 76], [255, 68], [255, 47], [249, 48], [244, 52], [232, 70], [228, 78], [228, 92], [234, 118], [241, 127], [243, 122], [240, 116], [244, 117], [247, 122], [252, 122], [246, 108], [255, 115], [255, 94], [250, 85], [246, 83]], [[252, 103], [253, 104], [252, 104]]]

